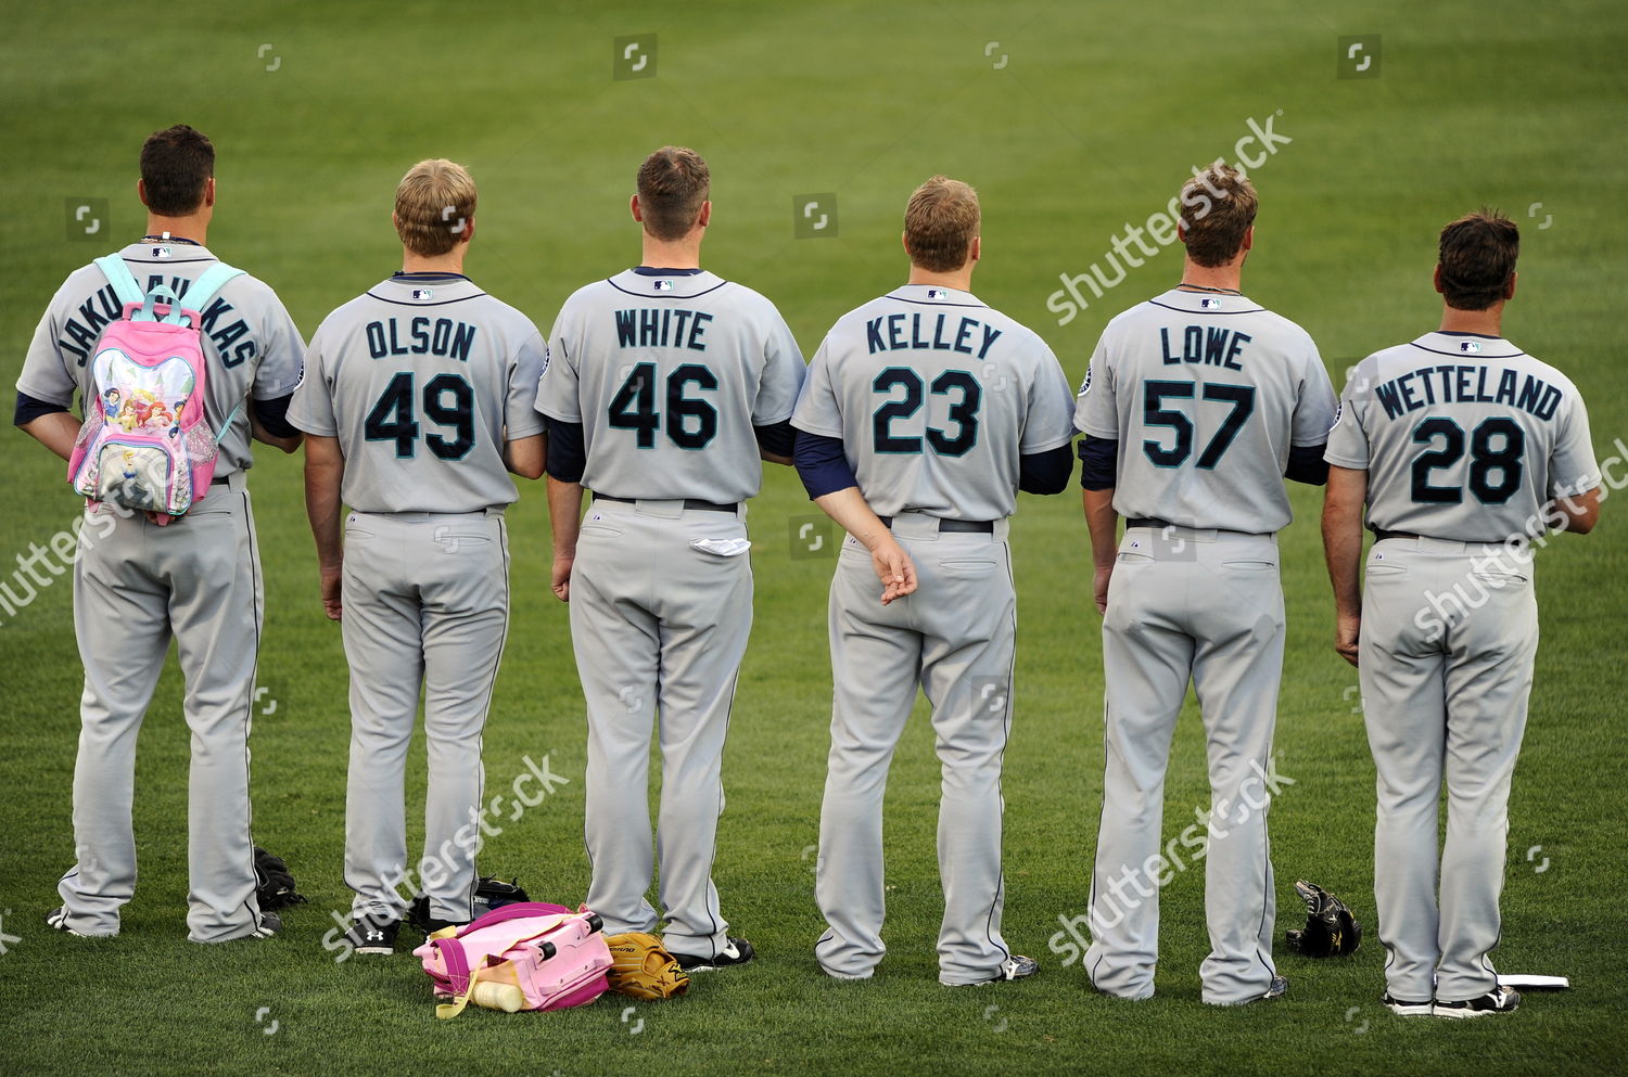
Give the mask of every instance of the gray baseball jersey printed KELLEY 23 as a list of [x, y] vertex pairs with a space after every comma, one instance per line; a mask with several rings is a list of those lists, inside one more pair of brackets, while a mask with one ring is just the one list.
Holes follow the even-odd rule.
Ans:
[[1032, 330], [970, 293], [905, 285], [838, 319], [791, 421], [843, 439], [882, 516], [993, 521], [1017, 504], [1017, 457], [1073, 439], [1071, 395]]

